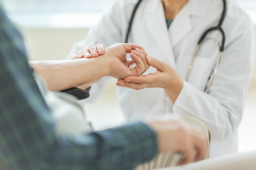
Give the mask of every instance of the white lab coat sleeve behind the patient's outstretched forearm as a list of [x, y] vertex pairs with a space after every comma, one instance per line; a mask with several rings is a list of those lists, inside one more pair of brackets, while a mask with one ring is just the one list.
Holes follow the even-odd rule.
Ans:
[[[67, 60], [70, 60], [75, 52], [82, 50], [90, 44], [97, 45], [97, 43], [102, 43], [105, 48], [114, 45], [117, 42], [122, 42], [122, 23], [121, 23], [121, 8], [119, 1], [114, 1], [110, 8], [102, 14], [100, 22], [90, 28], [87, 38], [80, 42], [75, 43]], [[92, 86], [90, 90], [90, 98], [80, 101], [80, 104], [85, 104], [85, 102], [93, 102], [97, 99], [105, 83], [110, 79], [110, 77], [104, 77], [100, 79], [96, 84]]]

